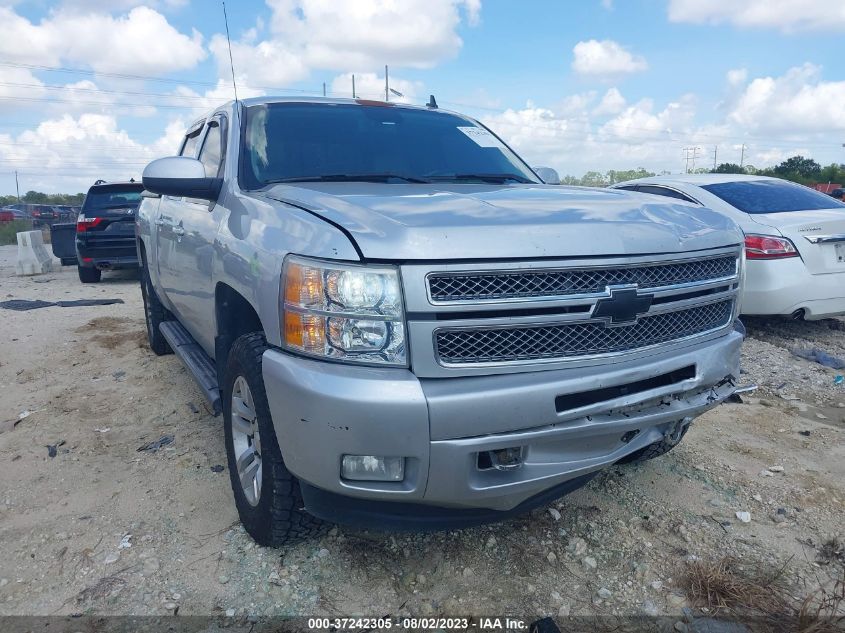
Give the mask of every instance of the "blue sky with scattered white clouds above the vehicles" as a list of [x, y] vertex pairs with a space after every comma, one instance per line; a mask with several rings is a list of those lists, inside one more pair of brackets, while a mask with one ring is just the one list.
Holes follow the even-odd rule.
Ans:
[[[384, 97], [561, 175], [845, 163], [842, 0], [229, 0], [241, 97]], [[138, 178], [233, 97], [216, 0], [0, 0], [0, 194]]]

